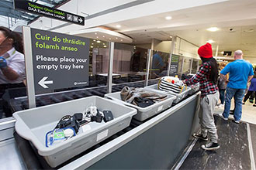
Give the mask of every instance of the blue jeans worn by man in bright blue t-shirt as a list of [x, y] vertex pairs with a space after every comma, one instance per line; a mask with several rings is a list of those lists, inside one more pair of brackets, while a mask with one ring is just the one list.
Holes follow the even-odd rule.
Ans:
[[234, 100], [235, 100], [234, 120], [240, 121], [242, 116], [242, 100], [244, 97], [244, 93], [245, 93], [245, 89], [233, 89], [233, 88], [227, 87], [223, 117], [227, 118], [229, 116], [231, 99], [232, 97], [234, 97]]

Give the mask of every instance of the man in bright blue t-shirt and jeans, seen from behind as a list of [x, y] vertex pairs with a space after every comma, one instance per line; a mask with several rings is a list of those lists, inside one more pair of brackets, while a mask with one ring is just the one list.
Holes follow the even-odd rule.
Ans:
[[243, 59], [243, 52], [237, 50], [234, 53], [234, 62], [231, 62], [220, 71], [220, 76], [224, 77], [229, 74], [227, 83], [225, 108], [222, 114], [224, 120], [227, 120], [230, 114], [230, 101], [232, 97], [235, 100], [234, 121], [239, 124], [242, 116], [242, 100], [244, 97], [247, 83], [254, 76], [254, 70], [251, 63]]

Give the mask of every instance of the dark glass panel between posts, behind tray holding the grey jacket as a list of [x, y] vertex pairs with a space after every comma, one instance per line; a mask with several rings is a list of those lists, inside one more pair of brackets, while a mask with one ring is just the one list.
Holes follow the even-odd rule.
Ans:
[[112, 83], [128, 83], [145, 80], [147, 49], [115, 43]]

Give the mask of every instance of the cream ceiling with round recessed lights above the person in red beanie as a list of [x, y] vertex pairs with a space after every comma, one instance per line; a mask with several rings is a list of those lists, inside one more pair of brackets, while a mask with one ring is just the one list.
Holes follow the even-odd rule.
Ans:
[[[171, 20], [165, 16], [170, 15]], [[122, 26], [117, 29], [116, 25]], [[244, 56], [256, 57], [256, 1], [230, 0], [227, 2], [186, 8], [137, 19], [114, 22], [106, 26], [133, 38], [134, 43], [150, 43], [152, 39], [171, 40], [179, 36], [197, 46], [213, 39], [213, 49], [221, 51], [242, 49]], [[216, 26], [220, 30], [206, 29]], [[230, 28], [233, 30], [230, 31]]]

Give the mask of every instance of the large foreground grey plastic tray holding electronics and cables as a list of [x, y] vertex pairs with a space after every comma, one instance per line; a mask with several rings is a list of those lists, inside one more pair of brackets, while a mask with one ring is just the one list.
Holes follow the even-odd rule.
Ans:
[[[45, 135], [55, 128], [61, 117], [82, 112], [91, 104], [100, 111], [111, 110], [114, 119], [106, 123], [104, 121], [102, 123], [90, 122], [83, 126], [86, 129], [85, 132], [49, 148], [45, 146]], [[13, 117], [16, 118], [17, 133], [22, 138], [32, 141], [39, 155], [42, 155], [51, 167], [56, 167], [128, 127], [134, 114], [137, 114], [136, 109], [116, 104], [106, 98], [93, 96], [22, 110], [13, 114]]]

